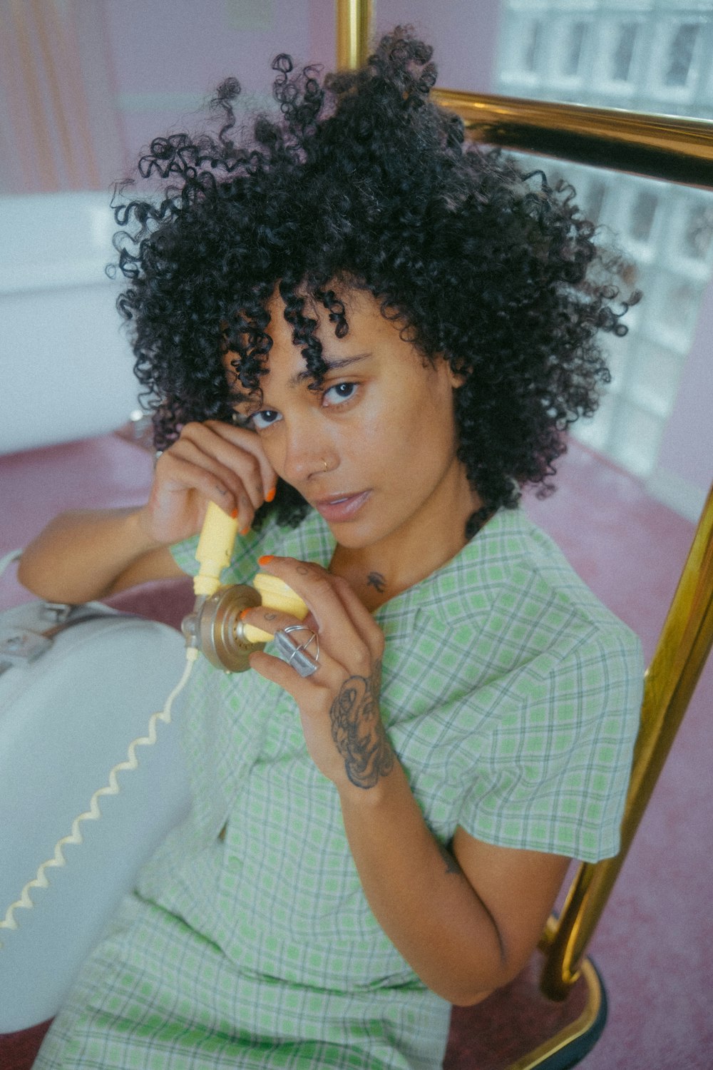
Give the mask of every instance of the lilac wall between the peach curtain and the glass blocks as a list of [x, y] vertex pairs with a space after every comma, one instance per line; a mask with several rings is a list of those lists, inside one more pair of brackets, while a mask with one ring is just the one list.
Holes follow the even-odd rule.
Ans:
[[[227, 75], [246, 95], [269, 92], [280, 51], [335, 64], [334, 0], [102, 0], [128, 162], [152, 137], [190, 123]], [[413, 24], [436, 49], [439, 83], [486, 92], [498, 0], [376, 0], [376, 32]]]

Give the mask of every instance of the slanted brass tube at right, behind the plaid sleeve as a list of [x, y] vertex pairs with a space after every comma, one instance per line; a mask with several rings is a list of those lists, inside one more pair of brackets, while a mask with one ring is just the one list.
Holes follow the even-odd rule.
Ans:
[[646, 674], [641, 728], [616, 858], [579, 867], [548, 947], [542, 991], [561, 999], [576, 980], [634, 834], [713, 646], [713, 488]]

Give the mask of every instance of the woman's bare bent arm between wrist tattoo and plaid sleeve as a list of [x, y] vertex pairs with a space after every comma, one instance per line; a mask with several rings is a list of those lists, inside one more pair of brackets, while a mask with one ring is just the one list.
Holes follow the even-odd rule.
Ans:
[[520, 973], [569, 859], [493, 846], [462, 828], [451, 854], [428, 829], [398, 763], [375, 788], [352, 785], [340, 800], [369, 905], [429, 988], [468, 1005]]

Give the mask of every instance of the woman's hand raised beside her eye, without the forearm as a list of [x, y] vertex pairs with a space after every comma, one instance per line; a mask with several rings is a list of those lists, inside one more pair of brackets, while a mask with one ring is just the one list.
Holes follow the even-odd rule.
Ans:
[[156, 542], [179, 542], [200, 531], [211, 501], [231, 516], [237, 513], [245, 533], [263, 502], [275, 496], [276, 484], [254, 431], [216, 419], [186, 424], [156, 462], [140, 523]]

